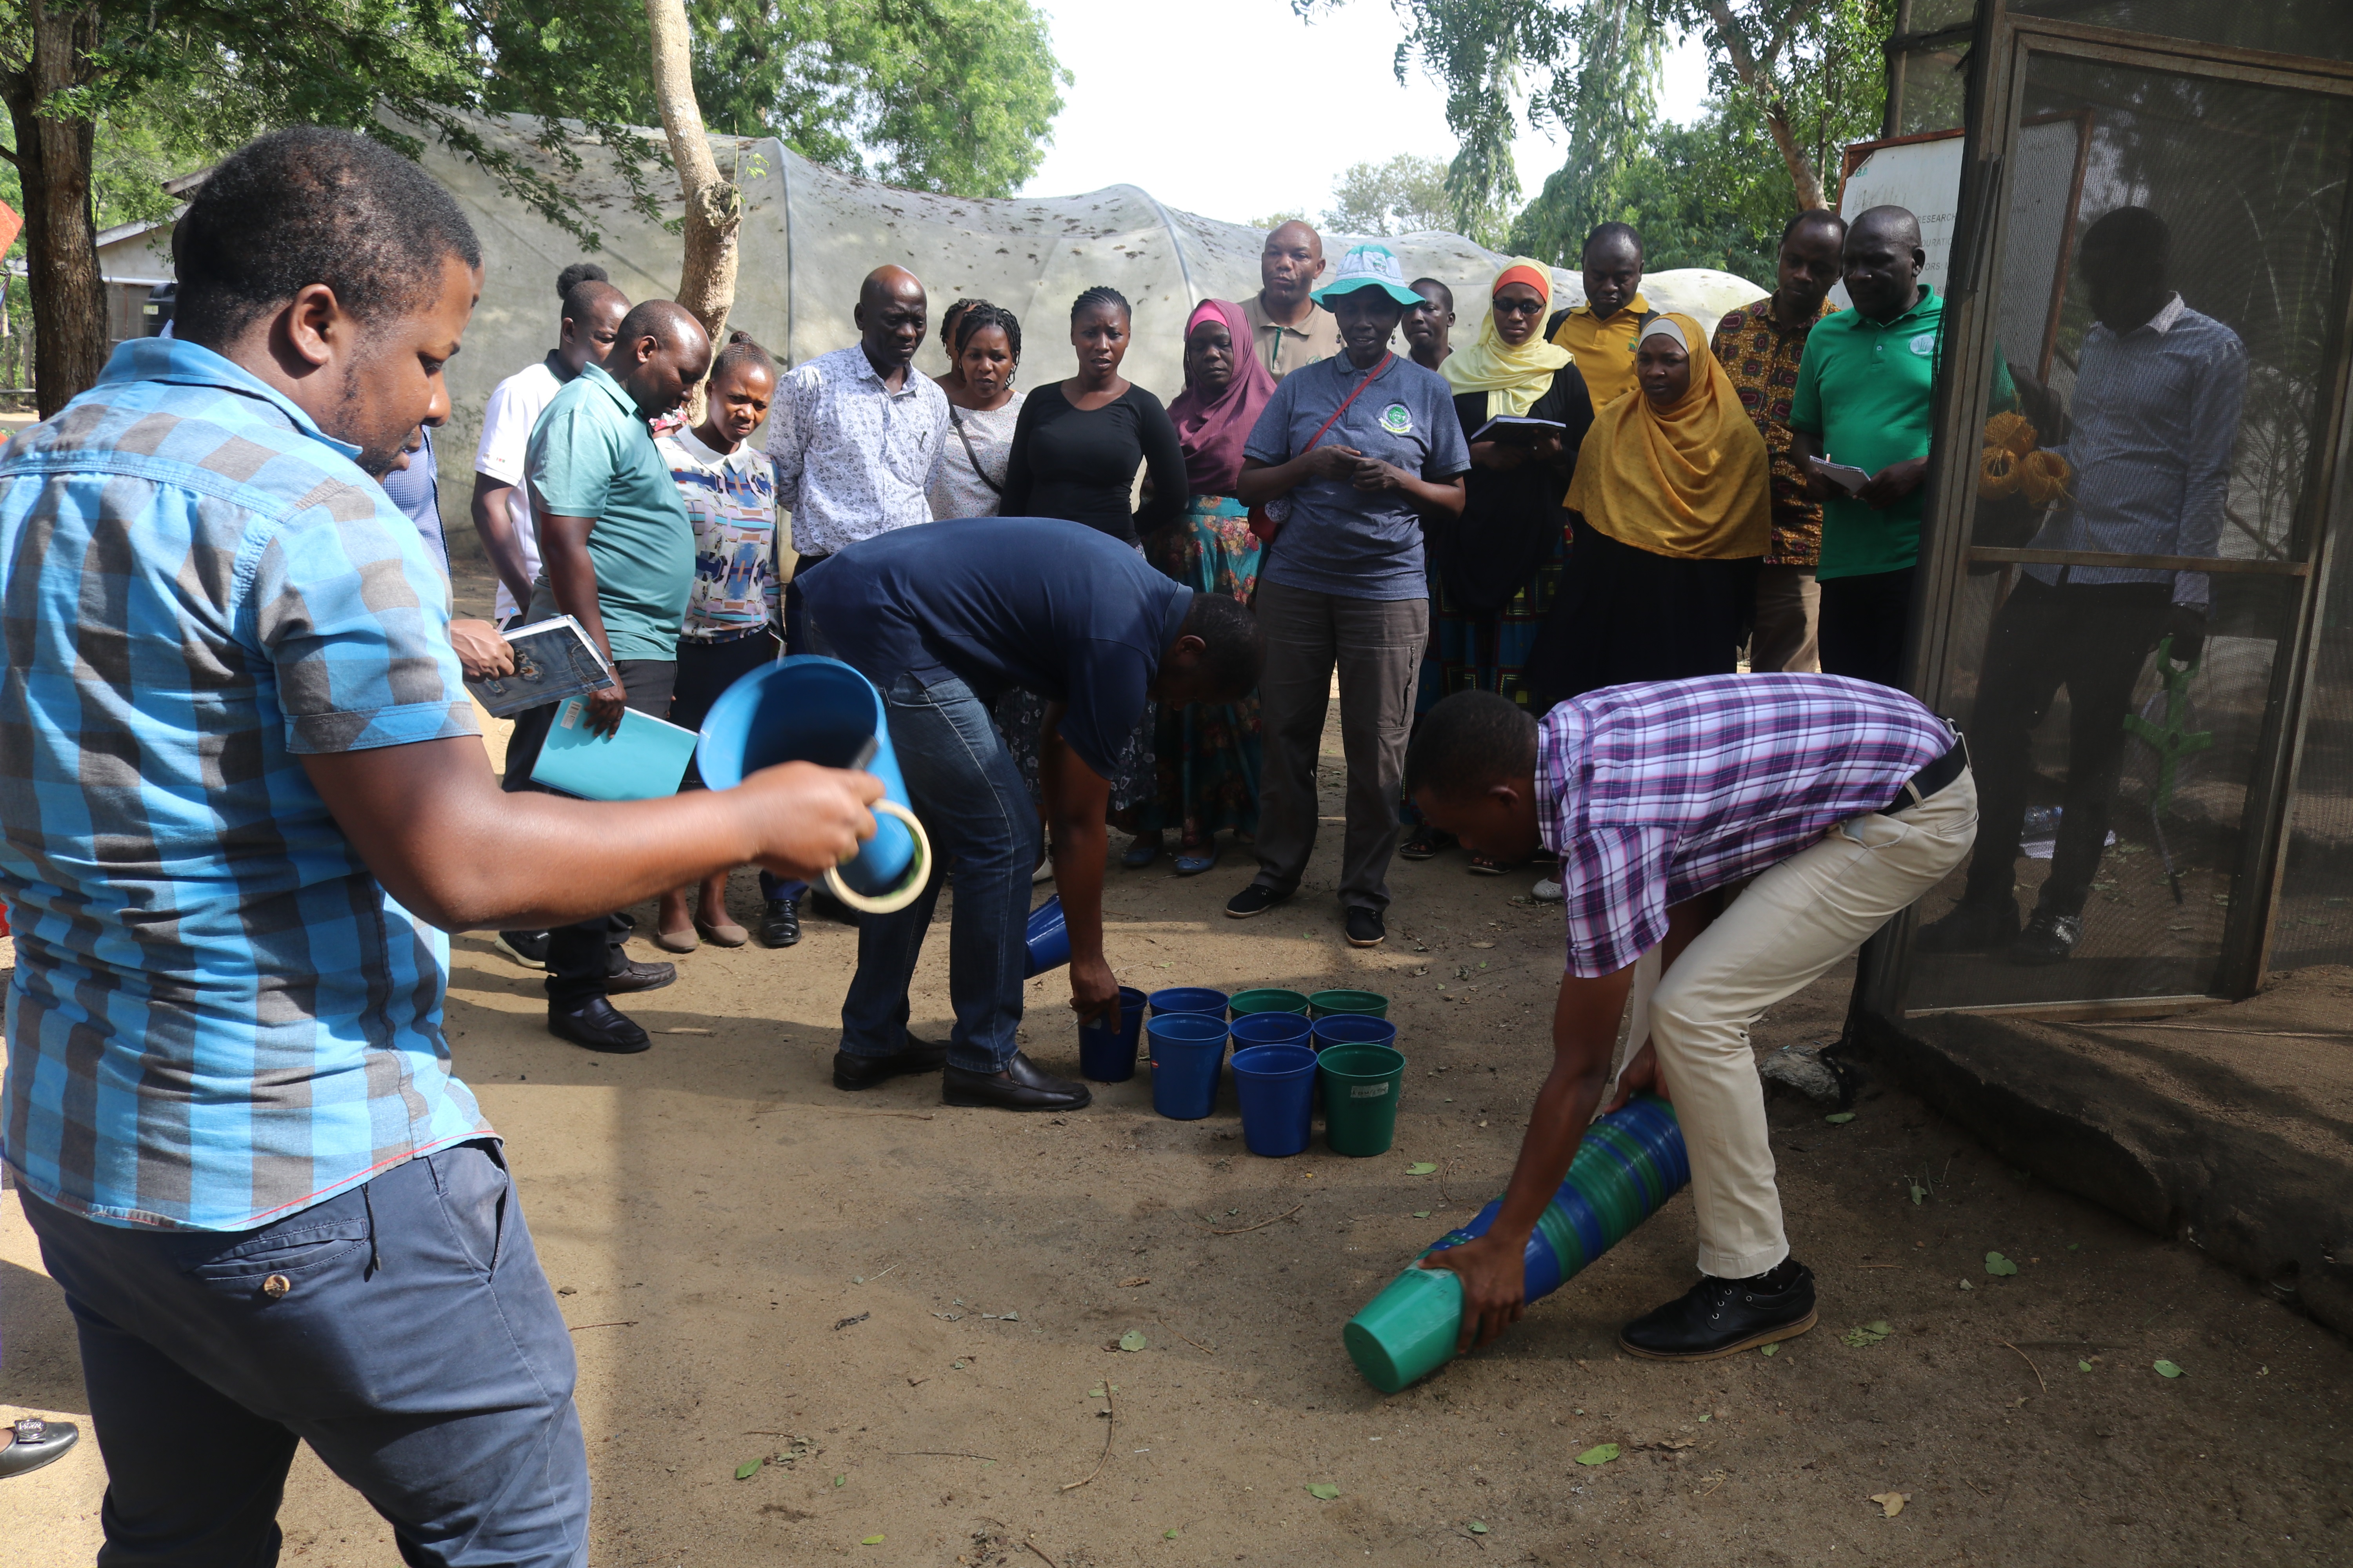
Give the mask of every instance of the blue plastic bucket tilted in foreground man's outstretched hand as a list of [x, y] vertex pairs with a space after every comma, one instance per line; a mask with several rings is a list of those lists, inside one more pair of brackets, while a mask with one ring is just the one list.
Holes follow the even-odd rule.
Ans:
[[779, 762], [866, 769], [882, 780], [875, 837], [826, 870], [826, 891], [864, 914], [894, 914], [932, 877], [932, 839], [906, 804], [882, 693], [838, 658], [793, 656], [760, 665], [711, 703], [694, 766], [713, 790]]

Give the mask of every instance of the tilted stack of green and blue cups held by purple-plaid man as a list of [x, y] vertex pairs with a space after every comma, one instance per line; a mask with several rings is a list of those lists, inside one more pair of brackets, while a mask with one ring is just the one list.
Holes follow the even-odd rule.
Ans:
[[[1666, 1208], [1692, 1180], [1675, 1107], [1657, 1095], [1635, 1095], [1586, 1128], [1560, 1192], [1537, 1218], [1527, 1239], [1527, 1300], [1551, 1295], [1588, 1262], [1624, 1241], [1635, 1225]], [[1442, 1253], [1494, 1225], [1497, 1199], [1461, 1229], [1438, 1237], [1428, 1253]], [[1464, 1324], [1464, 1284], [1454, 1269], [1431, 1269], [1419, 1260], [1388, 1281], [1341, 1331], [1341, 1345], [1365, 1382], [1395, 1394], [1454, 1359]]]

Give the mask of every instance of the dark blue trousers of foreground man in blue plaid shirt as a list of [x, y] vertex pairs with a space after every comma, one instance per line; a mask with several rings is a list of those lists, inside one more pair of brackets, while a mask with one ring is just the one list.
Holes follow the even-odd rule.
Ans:
[[494, 1143], [247, 1232], [19, 1197], [80, 1333], [101, 1568], [275, 1563], [296, 1441], [412, 1566], [588, 1561], [572, 1335]]

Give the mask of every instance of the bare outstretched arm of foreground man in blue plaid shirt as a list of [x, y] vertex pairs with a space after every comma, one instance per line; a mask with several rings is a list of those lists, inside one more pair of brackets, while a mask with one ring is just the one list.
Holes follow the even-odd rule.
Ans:
[[478, 736], [301, 762], [376, 882], [445, 931], [560, 926], [746, 860], [814, 879], [873, 837], [882, 795], [809, 762], [668, 799], [504, 795]]

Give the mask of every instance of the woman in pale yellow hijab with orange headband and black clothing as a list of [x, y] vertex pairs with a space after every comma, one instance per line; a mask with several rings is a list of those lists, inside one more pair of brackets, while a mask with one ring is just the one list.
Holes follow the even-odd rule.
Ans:
[[[1454, 388], [1454, 418], [1471, 442], [1461, 517], [1431, 529], [1431, 649], [1421, 658], [1414, 712], [1452, 691], [1501, 691], [1527, 701], [1522, 670], [1544, 611], [1560, 588], [1560, 489], [1593, 423], [1586, 381], [1569, 350], [1544, 341], [1553, 270], [1513, 256], [1487, 289], [1478, 341], [1438, 367]], [[1515, 421], [1489, 428], [1489, 421]], [[1407, 804], [1407, 820], [1412, 804]], [[1445, 839], [1417, 825], [1398, 849], [1428, 860]], [[1499, 872], [1471, 860], [1475, 872]]]

